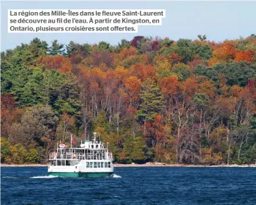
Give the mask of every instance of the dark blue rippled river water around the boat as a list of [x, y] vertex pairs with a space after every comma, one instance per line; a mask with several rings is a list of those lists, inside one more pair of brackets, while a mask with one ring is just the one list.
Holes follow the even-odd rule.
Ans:
[[[256, 204], [256, 168], [115, 168], [111, 178], [1, 168], [1, 204]], [[121, 176], [121, 177], [118, 177]]]

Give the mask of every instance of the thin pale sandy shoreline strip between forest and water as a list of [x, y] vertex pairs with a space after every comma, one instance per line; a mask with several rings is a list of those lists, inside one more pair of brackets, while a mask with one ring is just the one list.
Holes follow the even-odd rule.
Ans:
[[[47, 164], [1, 164], [1, 168], [11, 168], [11, 167], [47, 167]], [[256, 168], [255, 164], [250, 165], [186, 165], [186, 164], [165, 164], [165, 163], [146, 163], [146, 164], [114, 164], [114, 168]]]

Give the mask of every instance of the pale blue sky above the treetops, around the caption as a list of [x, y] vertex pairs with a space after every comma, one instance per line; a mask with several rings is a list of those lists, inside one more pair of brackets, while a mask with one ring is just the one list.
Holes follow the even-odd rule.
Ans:
[[[8, 9], [165, 9], [159, 26], [139, 26], [138, 33], [8, 33]], [[220, 42], [256, 34], [256, 1], [1, 1], [1, 51], [29, 43], [34, 37], [51, 44], [57, 39], [65, 45], [95, 44], [100, 41], [117, 45], [136, 35], [197, 39]]]

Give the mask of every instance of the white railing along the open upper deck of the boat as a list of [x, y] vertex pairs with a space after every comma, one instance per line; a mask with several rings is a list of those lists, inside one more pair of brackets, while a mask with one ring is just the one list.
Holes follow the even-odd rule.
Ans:
[[93, 153], [50, 153], [50, 160], [107, 160], [104, 154]]

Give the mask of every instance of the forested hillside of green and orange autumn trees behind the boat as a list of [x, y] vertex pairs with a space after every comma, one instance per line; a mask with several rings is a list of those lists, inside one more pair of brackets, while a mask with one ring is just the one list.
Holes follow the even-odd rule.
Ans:
[[256, 35], [38, 38], [1, 52], [1, 163], [46, 163], [93, 131], [116, 163], [254, 164]]

